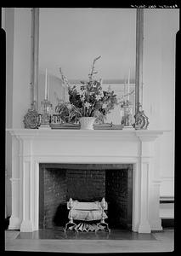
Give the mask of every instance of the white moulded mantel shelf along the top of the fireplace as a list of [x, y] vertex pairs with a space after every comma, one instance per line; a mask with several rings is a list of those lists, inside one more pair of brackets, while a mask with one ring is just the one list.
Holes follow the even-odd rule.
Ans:
[[17, 138], [22, 139], [33, 139], [33, 138], [47, 138], [47, 139], [58, 139], [58, 138], [67, 138], [70, 139], [81, 139], [86, 138], [91, 139], [105, 139], [105, 140], [114, 140], [114, 139], [137, 139], [140, 140], [155, 140], [156, 137], [160, 137], [165, 130], [69, 130], [69, 129], [56, 129], [56, 130], [39, 130], [39, 129], [7, 129], [6, 131]]

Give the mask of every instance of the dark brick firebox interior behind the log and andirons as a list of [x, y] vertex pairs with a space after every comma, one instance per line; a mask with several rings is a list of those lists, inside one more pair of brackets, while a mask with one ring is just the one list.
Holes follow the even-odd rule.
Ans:
[[111, 229], [132, 228], [133, 164], [40, 164], [39, 229], [65, 227], [66, 202], [108, 202]]

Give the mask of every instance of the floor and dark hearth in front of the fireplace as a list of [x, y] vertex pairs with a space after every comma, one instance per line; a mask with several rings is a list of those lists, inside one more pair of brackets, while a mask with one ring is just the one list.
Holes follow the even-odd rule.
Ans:
[[[61, 231], [59, 231], [61, 232]], [[58, 234], [58, 231], [55, 233]], [[111, 234], [112, 233], [112, 234]], [[119, 233], [119, 232], [118, 232]], [[172, 252], [174, 230], [163, 230], [151, 234], [138, 234], [121, 231], [120, 235], [111, 230], [110, 237], [96, 237], [95, 234], [81, 234], [79, 238], [63, 237], [59, 233], [53, 237], [53, 232], [22, 233], [20, 231], [5, 231], [5, 251], [25, 252], [59, 252], [59, 253], [143, 253]], [[116, 239], [114, 239], [114, 236]], [[118, 237], [120, 236], [120, 238]]]

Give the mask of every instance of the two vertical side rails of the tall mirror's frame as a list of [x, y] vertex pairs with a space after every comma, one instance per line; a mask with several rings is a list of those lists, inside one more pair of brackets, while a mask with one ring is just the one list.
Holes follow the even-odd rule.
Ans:
[[[135, 125], [143, 104], [144, 9], [136, 10]], [[31, 109], [38, 109], [39, 8], [31, 9]], [[144, 113], [144, 112], [143, 112]], [[144, 116], [144, 119], [146, 117]], [[148, 121], [148, 120], [147, 120]], [[148, 124], [147, 124], [148, 125]], [[147, 128], [147, 125], [145, 128]], [[139, 129], [143, 128], [140, 127]]]

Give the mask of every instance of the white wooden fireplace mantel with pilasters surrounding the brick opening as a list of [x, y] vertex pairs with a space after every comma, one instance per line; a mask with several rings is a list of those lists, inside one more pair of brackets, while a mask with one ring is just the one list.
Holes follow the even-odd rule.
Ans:
[[[164, 131], [7, 129], [12, 136], [9, 230], [38, 230], [40, 163], [133, 164], [132, 230], [162, 230], [155, 140]], [[156, 174], [157, 173], [157, 174]]]

